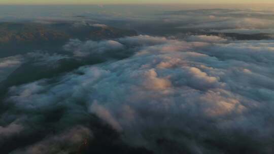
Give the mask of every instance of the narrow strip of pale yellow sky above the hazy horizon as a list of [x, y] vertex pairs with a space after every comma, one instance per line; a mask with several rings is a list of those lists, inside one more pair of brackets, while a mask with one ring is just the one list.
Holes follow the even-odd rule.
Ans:
[[272, 0], [231, 0], [231, 1], [220, 1], [220, 0], [0, 0], [0, 4], [5, 5], [60, 5], [60, 4], [262, 4], [262, 3], [274, 3]]

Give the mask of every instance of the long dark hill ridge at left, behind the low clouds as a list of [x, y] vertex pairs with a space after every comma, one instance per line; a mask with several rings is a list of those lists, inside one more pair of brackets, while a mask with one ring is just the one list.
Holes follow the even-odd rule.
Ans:
[[0, 57], [33, 50], [58, 50], [70, 38], [105, 40], [136, 35], [136, 31], [86, 23], [0, 23]]

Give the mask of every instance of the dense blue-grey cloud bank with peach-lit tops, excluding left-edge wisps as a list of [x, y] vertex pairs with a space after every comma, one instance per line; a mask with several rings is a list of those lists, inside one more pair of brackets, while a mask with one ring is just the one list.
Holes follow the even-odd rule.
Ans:
[[[176, 144], [184, 145], [176, 147], [179, 151], [226, 149], [205, 146], [204, 140], [229, 142], [233, 147], [270, 143], [274, 42], [222, 44], [219, 37], [214, 41], [206, 37], [204, 42], [194, 38], [202, 41], [199, 36], [185, 42], [142, 35], [115, 42], [72, 40], [64, 48], [73, 52], [138, 48], [129, 58], [83, 66], [54, 83], [41, 80], [12, 87], [6, 102], [22, 112], [58, 104], [82, 116], [93, 113], [120, 132], [129, 145], [156, 153], [168, 152]], [[250, 138], [251, 142], [244, 142]], [[269, 153], [269, 146], [257, 145], [253, 150]]]

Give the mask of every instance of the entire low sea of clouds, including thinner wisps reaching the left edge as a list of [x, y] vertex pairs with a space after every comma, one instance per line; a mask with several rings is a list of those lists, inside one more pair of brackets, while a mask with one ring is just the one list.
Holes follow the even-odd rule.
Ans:
[[[52, 64], [67, 56], [130, 56], [10, 87], [0, 145], [45, 134], [11, 153], [77, 152], [85, 139], [94, 139], [92, 116], [124, 144], [155, 153], [273, 152], [273, 40], [139, 35], [71, 40], [63, 49], [71, 55], [36, 57]], [[1, 59], [0, 70], [18, 67], [23, 57]]]

